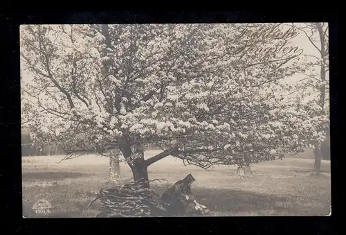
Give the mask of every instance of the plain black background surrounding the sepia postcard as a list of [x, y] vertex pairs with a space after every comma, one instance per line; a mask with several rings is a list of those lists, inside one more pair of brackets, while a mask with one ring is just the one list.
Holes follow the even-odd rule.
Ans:
[[[11, 2], [10, 2], [11, 3]], [[54, 5], [48, 6], [54, 8]], [[51, 2], [59, 5], [58, 2]], [[19, 3], [17, 3], [19, 4]], [[288, 4], [288, 3], [287, 3]], [[316, 3], [317, 4], [317, 3]], [[101, 5], [101, 4], [100, 4]], [[286, 8], [284, 6], [282, 9]], [[338, 14], [287, 11], [179, 11], [179, 12], [0, 12], [1, 21], [1, 98], [0, 128], [2, 159], [1, 234], [339, 234], [343, 220], [336, 223], [342, 210], [340, 189], [343, 165], [338, 155]], [[24, 219], [21, 212], [21, 124], [19, 90], [19, 25], [20, 24], [116, 24], [116, 23], [241, 23], [241, 22], [329, 22], [330, 94], [331, 94], [331, 177], [332, 215], [297, 217], [215, 217], [215, 218], [37, 218]], [[343, 138], [343, 137], [341, 137]], [[342, 152], [341, 152], [342, 153]], [[340, 167], [339, 171], [337, 168]], [[6, 170], [6, 171], [5, 171]], [[8, 220], [8, 221], [6, 221]], [[6, 232], [7, 231], [7, 232]], [[9, 232], [10, 231], [10, 232]]]

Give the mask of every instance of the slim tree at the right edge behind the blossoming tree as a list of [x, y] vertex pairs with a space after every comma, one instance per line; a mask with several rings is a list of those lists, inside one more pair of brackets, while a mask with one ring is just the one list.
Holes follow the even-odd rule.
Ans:
[[[313, 168], [316, 174], [320, 174], [322, 153], [328, 154], [326, 148], [330, 148], [326, 138], [327, 132], [329, 134], [329, 27], [327, 23], [293, 24], [293, 26], [307, 37], [318, 55], [304, 54], [308, 69], [303, 73], [305, 77], [297, 83], [299, 87], [297, 90], [309, 97], [307, 103], [310, 106], [309, 112], [315, 116], [315, 119], [311, 119], [315, 130], [311, 139], [315, 154]], [[319, 132], [322, 133], [318, 134]]]

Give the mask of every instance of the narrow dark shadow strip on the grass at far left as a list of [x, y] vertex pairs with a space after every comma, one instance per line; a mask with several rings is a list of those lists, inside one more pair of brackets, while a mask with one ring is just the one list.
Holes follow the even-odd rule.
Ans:
[[89, 173], [80, 172], [53, 172], [53, 171], [42, 171], [42, 172], [26, 172], [22, 173], [21, 177], [23, 180], [64, 180], [66, 178], [79, 178], [91, 176]]

